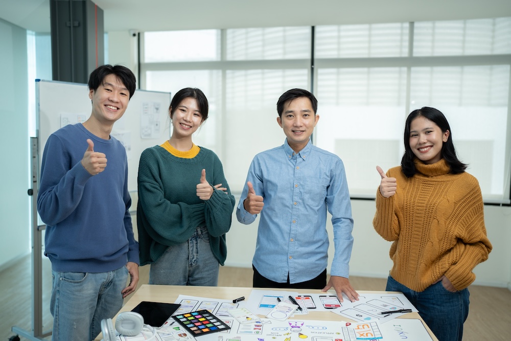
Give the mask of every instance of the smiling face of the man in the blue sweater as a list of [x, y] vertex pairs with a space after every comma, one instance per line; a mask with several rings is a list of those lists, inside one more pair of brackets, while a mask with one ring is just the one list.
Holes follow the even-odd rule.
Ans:
[[115, 75], [109, 74], [96, 90], [89, 91], [89, 98], [92, 100], [91, 119], [111, 126], [124, 115], [129, 91]]

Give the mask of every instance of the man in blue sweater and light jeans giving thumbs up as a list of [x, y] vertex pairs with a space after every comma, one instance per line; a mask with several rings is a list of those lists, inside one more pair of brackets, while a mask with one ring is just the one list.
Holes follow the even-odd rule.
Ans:
[[98, 67], [88, 82], [90, 117], [57, 130], [44, 147], [37, 209], [52, 262], [54, 341], [94, 339], [138, 282], [126, 150], [110, 136], [135, 82], [124, 66]]

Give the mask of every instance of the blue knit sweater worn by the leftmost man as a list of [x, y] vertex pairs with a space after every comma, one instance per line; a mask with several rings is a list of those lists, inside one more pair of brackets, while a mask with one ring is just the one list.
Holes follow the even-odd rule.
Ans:
[[[87, 139], [105, 153], [107, 167], [90, 175], [81, 164]], [[103, 140], [81, 124], [50, 135], [41, 166], [37, 210], [47, 224], [44, 254], [55, 271], [106, 272], [138, 263], [128, 209], [128, 165], [124, 146]]]

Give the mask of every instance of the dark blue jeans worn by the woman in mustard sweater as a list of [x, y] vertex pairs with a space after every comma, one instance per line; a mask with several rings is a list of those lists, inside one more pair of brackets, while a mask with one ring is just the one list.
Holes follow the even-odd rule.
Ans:
[[451, 292], [438, 282], [418, 292], [389, 276], [386, 290], [403, 292], [439, 341], [461, 341], [469, 315], [469, 289]]

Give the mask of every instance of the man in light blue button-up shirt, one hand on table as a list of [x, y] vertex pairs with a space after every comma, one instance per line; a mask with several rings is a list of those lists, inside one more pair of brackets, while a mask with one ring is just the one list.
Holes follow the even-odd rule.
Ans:
[[[304, 89], [291, 89], [277, 101], [277, 123], [284, 145], [255, 155], [236, 210], [250, 224], [261, 214], [252, 260], [254, 287], [334, 288], [355, 301], [348, 279], [353, 246], [350, 194], [341, 159], [312, 145], [319, 120], [317, 100]], [[327, 284], [332, 214], [335, 253]]]

